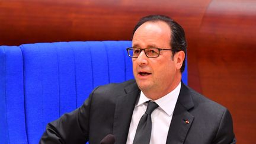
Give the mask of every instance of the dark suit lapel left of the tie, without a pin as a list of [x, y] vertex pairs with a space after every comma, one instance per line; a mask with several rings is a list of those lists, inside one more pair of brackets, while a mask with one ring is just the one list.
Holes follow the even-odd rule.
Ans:
[[140, 94], [136, 83], [126, 87], [124, 91], [126, 94], [117, 98], [114, 114], [113, 134], [116, 137], [116, 143], [126, 143], [133, 109]]

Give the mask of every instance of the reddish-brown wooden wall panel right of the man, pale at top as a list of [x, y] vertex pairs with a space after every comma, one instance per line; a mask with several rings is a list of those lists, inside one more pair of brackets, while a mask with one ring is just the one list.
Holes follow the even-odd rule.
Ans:
[[202, 92], [229, 108], [238, 143], [256, 135], [255, 25], [255, 1], [212, 1], [197, 47]]

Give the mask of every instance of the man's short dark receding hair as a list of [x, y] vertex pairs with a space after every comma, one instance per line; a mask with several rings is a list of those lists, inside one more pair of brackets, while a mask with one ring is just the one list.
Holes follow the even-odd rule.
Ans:
[[[135, 28], [133, 29], [133, 35], [135, 34], [135, 31], [137, 28], [140, 27], [140, 25], [146, 23], [146, 22], [157, 22], [157, 21], [163, 21], [167, 23], [171, 29], [171, 40], [170, 40], [170, 46], [171, 49], [174, 50], [182, 50], [185, 53], [185, 57], [187, 55], [187, 41], [185, 40], [185, 32], [183, 27], [181, 27], [180, 24], [178, 24], [176, 21], [172, 20], [171, 18], [165, 16], [165, 15], [148, 15], [146, 17], [143, 17], [139, 20], [139, 22], [135, 25]], [[175, 52], [172, 52], [172, 56], [174, 56]], [[181, 66], [180, 71], [183, 72], [185, 69], [185, 59], [183, 61], [183, 65]]]

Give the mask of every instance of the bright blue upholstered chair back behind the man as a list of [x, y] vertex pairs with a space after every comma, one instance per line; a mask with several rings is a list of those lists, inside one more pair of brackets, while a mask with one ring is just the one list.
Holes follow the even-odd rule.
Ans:
[[82, 105], [93, 88], [133, 79], [130, 46], [131, 41], [0, 46], [0, 143], [38, 143], [47, 123]]

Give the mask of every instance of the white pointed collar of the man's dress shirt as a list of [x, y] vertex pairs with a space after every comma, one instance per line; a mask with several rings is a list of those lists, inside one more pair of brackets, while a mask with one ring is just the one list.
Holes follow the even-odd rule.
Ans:
[[[158, 104], [159, 107], [162, 110], [164, 110], [165, 113], [168, 114], [168, 116], [171, 116], [172, 113], [174, 112], [174, 108], [178, 100], [178, 95], [180, 94], [180, 89], [181, 89], [181, 82], [173, 91], [169, 92], [164, 97], [161, 97], [158, 100], [155, 100], [155, 103]], [[135, 107], [145, 104], [145, 102], [149, 100], [151, 99], [146, 97], [146, 95], [141, 91], [139, 100], [137, 101], [137, 104], [135, 105]]]

